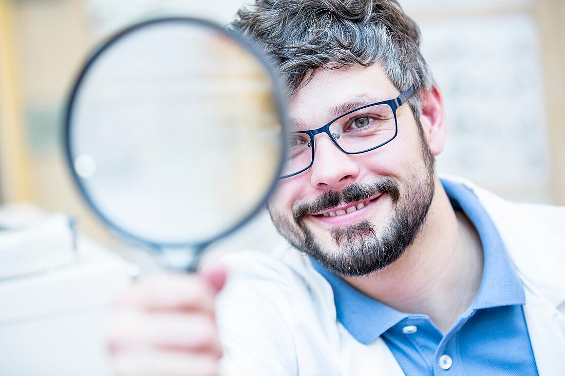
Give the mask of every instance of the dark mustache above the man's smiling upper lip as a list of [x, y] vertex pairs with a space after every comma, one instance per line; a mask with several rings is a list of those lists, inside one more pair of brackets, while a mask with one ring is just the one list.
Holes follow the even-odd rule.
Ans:
[[393, 203], [400, 198], [398, 184], [392, 178], [384, 177], [368, 184], [352, 183], [341, 192], [325, 191], [318, 198], [300, 203], [292, 209], [294, 220], [300, 222], [303, 217], [319, 213], [336, 206], [346, 205], [368, 199], [377, 194], [387, 193], [392, 197]]

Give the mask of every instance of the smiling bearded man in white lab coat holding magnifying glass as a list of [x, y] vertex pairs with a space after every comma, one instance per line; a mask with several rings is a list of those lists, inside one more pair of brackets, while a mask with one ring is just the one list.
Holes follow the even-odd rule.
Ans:
[[444, 103], [398, 3], [258, 0], [232, 28], [290, 87], [268, 209], [292, 246], [227, 257], [216, 307], [221, 268], [140, 283], [118, 374], [565, 375], [565, 210], [437, 177]]

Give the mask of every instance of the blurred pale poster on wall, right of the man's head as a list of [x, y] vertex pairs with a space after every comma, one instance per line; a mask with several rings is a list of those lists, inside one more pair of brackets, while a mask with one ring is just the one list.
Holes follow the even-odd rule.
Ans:
[[515, 200], [550, 197], [536, 24], [527, 15], [420, 23], [423, 54], [445, 96], [440, 172]]

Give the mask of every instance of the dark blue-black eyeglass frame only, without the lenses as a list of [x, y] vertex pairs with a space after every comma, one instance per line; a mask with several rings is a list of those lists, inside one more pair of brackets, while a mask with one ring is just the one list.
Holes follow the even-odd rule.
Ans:
[[[299, 130], [297, 132], [290, 132], [290, 135], [292, 134], [298, 134], [298, 133], [303, 133], [303, 134], [307, 134], [308, 136], [310, 136], [310, 145], [312, 145], [312, 159], [310, 160], [310, 164], [308, 164], [307, 167], [299, 170], [298, 172], [292, 173], [292, 174], [288, 174], [285, 176], [280, 176], [280, 179], [286, 179], [289, 177], [293, 177], [295, 175], [298, 175], [299, 173], [305, 172], [308, 168], [312, 167], [312, 164], [314, 164], [314, 147], [315, 147], [315, 143], [314, 143], [314, 136], [316, 134], [319, 133], [326, 133], [329, 138], [332, 140], [332, 142], [334, 143], [334, 145], [336, 145], [342, 152], [344, 152], [345, 154], [362, 154], [364, 152], [367, 151], [371, 151], [371, 150], [375, 150], [376, 148], [379, 148], [381, 146], [386, 145], [387, 143], [389, 143], [390, 141], [393, 141], [394, 138], [396, 138], [396, 135], [398, 134], [398, 121], [396, 120], [396, 110], [398, 110], [398, 107], [402, 106], [402, 104], [406, 103], [406, 101], [408, 99], [410, 99], [410, 97], [412, 97], [412, 95], [414, 95], [415, 93], [415, 88], [414, 86], [412, 86], [411, 88], [402, 91], [402, 93], [400, 95], [398, 95], [398, 97], [394, 98], [394, 99], [389, 99], [389, 100], [383, 100], [383, 102], [375, 102], [375, 103], [371, 103], [371, 104], [366, 104], [365, 106], [359, 107], [359, 108], [355, 108], [355, 110], [351, 110], [348, 111], [346, 113], [344, 113], [343, 115], [340, 115], [338, 117], [336, 117], [336, 119], [333, 119], [332, 121], [330, 121], [329, 123], [320, 126], [320, 128], [317, 129], [310, 129], [310, 130]], [[392, 108], [392, 113], [394, 114], [394, 135], [392, 138], [390, 138], [388, 141], [381, 143], [380, 145], [368, 148], [367, 150], [362, 150], [362, 151], [345, 151], [344, 148], [342, 148], [336, 141], [336, 139], [333, 137], [333, 135], [331, 134], [331, 132], [329, 132], [329, 126], [332, 125], [333, 123], [335, 123], [337, 120], [340, 120], [342, 117], [345, 117], [347, 115], [349, 115], [350, 113], [353, 112], [357, 112], [359, 110], [363, 110], [363, 108], [367, 108], [367, 107], [372, 107], [372, 106], [377, 106], [377, 104], [388, 104], [388, 106], [390, 106], [390, 108]]]

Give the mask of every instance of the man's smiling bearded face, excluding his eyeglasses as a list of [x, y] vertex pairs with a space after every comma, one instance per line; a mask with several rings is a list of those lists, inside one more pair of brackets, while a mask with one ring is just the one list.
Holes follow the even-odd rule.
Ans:
[[[319, 128], [344, 103], [399, 94], [380, 64], [320, 69], [294, 95], [291, 124], [293, 130]], [[347, 155], [327, 134], [316, 135], [312, 167], [281, 180], [268, 204], [279, 232], [335, 273], [361, 276], [393, 263], [431, 205], [433, 158], [407, 103], [397, 121], [393, 141], [362, 154]]]

